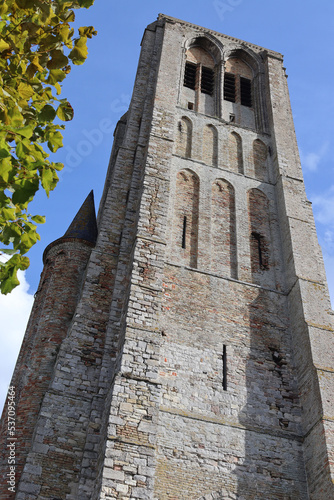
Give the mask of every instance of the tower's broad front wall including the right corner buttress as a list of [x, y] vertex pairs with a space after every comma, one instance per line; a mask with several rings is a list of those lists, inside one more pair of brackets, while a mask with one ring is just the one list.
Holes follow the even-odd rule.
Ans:
[[[213, 99], [223, 120], [197, 113], [187, 109], [188, 89], [182, 102], [182, 68], [185, 41], [205, 35], [225, 57], [240, 56], [231, 38], [171, 19], [164, 25], [100, 498], [188, 499], [212, 492], [215, 498], [325, 499], [333, 492], [331, 416], [324, 415], [321, 398], [329, 393], [325, 384], [319, 389], [305, 311], [328, 342], [333, 330], [282, 57], [243, 44], [245, 60], [257, 61], [256, 116], [240, 103], [222, 102], [221, 92]], [[222, 82], [221, 72], [217, 78]], [[207, 126], [218, 131], [217, 158], [205, 152], [214, 147], [202, 142]], [[238, 168], [235, 156], [229, 164], [231, 134], [240, 137]], [[225, 259], [220, 269], [213, 259], [220, 244], [212, 224], [217, 182], [233, 187], [234, 201], [221, 202], [230, 211], [221, 251], [231, 254], [235, 239], [234, 274]], [[185, 248], [182, 216], [190, 231]], [[307, 242], [294, 230], [300, 220]], [[311, 265], [308, 255], [317, 262]], [[316, 305], [300, 295], [302, 278], [318, 290]], [[311, 436], [320, 436], [317, 428], [319, 440]]]

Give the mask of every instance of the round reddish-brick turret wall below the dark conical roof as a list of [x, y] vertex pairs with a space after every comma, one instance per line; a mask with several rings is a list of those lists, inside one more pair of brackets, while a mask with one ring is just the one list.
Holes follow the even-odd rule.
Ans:
[[[40, 406], [53, 375], [57, 353], [77, 305], [91, 246], [64, 238], [49, 247], [33, 310], [11, 380], [15, 391], [16, 478], [30, 450]], [[8, 491], [7, 405], [1, 419], [1, 498]]]

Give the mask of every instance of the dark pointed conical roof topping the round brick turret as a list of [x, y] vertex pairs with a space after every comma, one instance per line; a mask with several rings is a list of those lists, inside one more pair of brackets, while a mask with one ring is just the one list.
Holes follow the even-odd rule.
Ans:
[[63, 238], [80, 238], [96, 243], [97, 224], [93, 191], [89, 193]]

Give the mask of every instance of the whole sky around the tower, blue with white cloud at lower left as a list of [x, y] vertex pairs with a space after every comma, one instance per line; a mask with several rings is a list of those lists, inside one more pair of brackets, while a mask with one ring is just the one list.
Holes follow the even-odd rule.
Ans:
[[284, 55], [306, 191], [334, 299], [334, 3], [96, 0], [77, 13], [77, 24], [93, 25], [98, 35], [89, 40], [86, 63], [73, 67], [63, 85], [62, 97], [75, 115], [66, 126], [64, 148], [53, 159], [65, 163], [65, 169], [50, 198], [41, 191], [31, 206], [31, 213], [46, 215], [46, 224], [40, 226], [41, 242], [28, 254], [31, 266], [22, 287], [11, 297], [0, 297], [0, 406], [38, 286], [43, 250], [64, 234], [91, 189], [98, 208], [113, 130], [131, 98], [143, 31], [159, 12]]

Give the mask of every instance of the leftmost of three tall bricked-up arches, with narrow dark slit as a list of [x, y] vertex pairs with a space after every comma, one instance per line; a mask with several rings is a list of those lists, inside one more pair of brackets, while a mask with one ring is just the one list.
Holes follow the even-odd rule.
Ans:
[[173, 256], [178, 262], [197, 267], [199, 179], [191, 170], [176, 177], [173, 219]]

